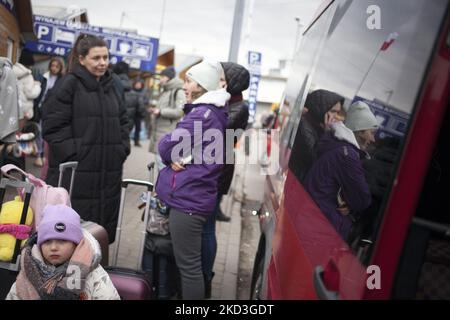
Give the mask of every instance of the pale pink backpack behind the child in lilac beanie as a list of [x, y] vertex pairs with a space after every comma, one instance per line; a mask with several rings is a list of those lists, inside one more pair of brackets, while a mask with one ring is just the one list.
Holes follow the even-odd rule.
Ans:
[[[67, 206], [71, 206], [69, 193], [66, 189], [62, 187], [52, 187], [46, 184], [41, 179], [36, 178], [30, 173], [26, 173], [22, 169], [16, 167], [13, 164], [7, 164], [1, 167], [1, 173], [7, 178], [17, 180], [16, 177], [10, 174], [11, 171], [17, 171], [22, 174], [31, 184], [34, 185], [33, 193], [31, 194], [30, 199], [30, 207], [33, 210], [34, 221], [33, 221], [33, 230], [36, 230], [36, 227], [39, 225], [42, 219], [42, 212], [44, 208], [48, 204], [65, 204]], [[24, 190], [18, 190], [19, 195], [22, 200], [25, 197]]]

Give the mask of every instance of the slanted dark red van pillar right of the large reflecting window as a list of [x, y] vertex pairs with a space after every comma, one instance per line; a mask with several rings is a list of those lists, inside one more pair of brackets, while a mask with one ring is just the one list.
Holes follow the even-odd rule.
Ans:
[[[449, 103], [450, 51], [445, 41], [449, 33], [447, 19], [445, 32], [439, 39], [439, 51], [432, 60], [426, 79], [420, 109], [411, 128], [401, 167], [385, 219], [379, 234], [372, 264], [381, 269], [381, 290], [368, 290], [365, 298], [388, 299], [390, 297], [397, 264], [403, 248], [407, 228], [419, 200], [419, 194], [427, 173], [436, 138]], [[408, 199], [409, 201], [405, 201]]]

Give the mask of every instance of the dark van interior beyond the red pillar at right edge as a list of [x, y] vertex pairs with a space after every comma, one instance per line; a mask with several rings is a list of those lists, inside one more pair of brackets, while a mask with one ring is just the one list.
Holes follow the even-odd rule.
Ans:
[[397, 270], [396, 299], [450, 299], [450, 109], [443, 120]]

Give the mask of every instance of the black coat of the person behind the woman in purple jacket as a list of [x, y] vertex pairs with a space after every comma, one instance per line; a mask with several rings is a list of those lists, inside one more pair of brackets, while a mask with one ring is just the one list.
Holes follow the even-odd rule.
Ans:
[[[231, 98], [233, 99], [233, 97]], [[230, 104], [228, 111], [227, 129], [242, 129], [245, 130], [248, 124], [248, 105], [244, 101], [238, 101]], [[234, 141], [234, 145], [237, 139]], [[227, 152], [233, 152], [228, 150]], [[234, 164], [226, 164], [219, 177], [218, 194], [227, 194], [230, 189], [231, 181], [233, 180]]]

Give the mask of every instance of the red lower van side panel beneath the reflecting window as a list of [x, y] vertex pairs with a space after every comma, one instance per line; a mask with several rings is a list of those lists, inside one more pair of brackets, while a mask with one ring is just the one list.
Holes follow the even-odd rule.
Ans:
[[[365, 269], [303, 186], [289, 172], [285, 198], [277, 211], [270, 265], [272, 270], [269, 271], [269, 277], [276, 276], [276, 279], [270, 280], [269, 289], [273, 292], [269, 296], [275, 299], [316, 299], [314, 267], [326, 266], [330, 257], [333, 257], [339, 270], [346, 271], [339, 279], [342, 298], [361, 299], [365, 287]], [[349, 274], [351, 278], [345, 276]], [[277, 287], [274, 287], [275, 283]]]

